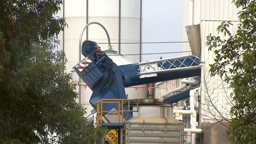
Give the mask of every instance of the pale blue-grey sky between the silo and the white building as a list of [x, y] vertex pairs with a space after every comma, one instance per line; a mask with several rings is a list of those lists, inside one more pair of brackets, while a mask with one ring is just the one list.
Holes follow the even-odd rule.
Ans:
[[[170, 42], [182, 41], [182, 0], [143, 0], [142, 41]], [[142, 54], [179, 52], [181, 43], [142, 44]], [[142, 55], [142, 60], [156, 60], [181, 55], [154, 54]]]

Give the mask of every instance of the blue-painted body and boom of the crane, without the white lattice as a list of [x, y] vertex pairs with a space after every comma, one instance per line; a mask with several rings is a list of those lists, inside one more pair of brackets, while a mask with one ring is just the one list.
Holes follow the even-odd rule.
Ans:
[[[90, 103], [94, 108], [96, 108], [96, 104], [100, 99], [126, 99], [124, 86], [130, 87], [171, 79], [188, 78], [200, 76], [201, 74], [200, 68], [197, 68], [161, 72], [158, 73], [156, 77], [139, 78], [139, 75], [137, 74], [139, 72], [138, 65], [130, 64], [117, 66], [104, 52], [100, 51], [100, 47], [92, 41], [83, 42], [82, 54], [85, 57], [89, 57], [92, 61], [91, 64], [82, 72], [76, 67], [74, 67], [74, 69], [78, 76], [85, 81], [91, 90], [93, 90]], [[182, 59], [180, 61], [182, 61]], [[160, 65], [162, 64], [160, 63]], [[169, 69], [170, 66], [171, 65], [168, 63], [163, 64], [163, 68], [165, 69]], [[166, 99], [166, 102], [171, 102], [171, 100]], [[110, 111], [113, 108], [118, 109], [115, 104], [103, 106], [104, 111]], [[124, 110], [127, 109], [127, 107], [124, 107]], [[131, 117], [132, 113], [124, 113], [124, 118], [126, 118], [126, 120]]]

